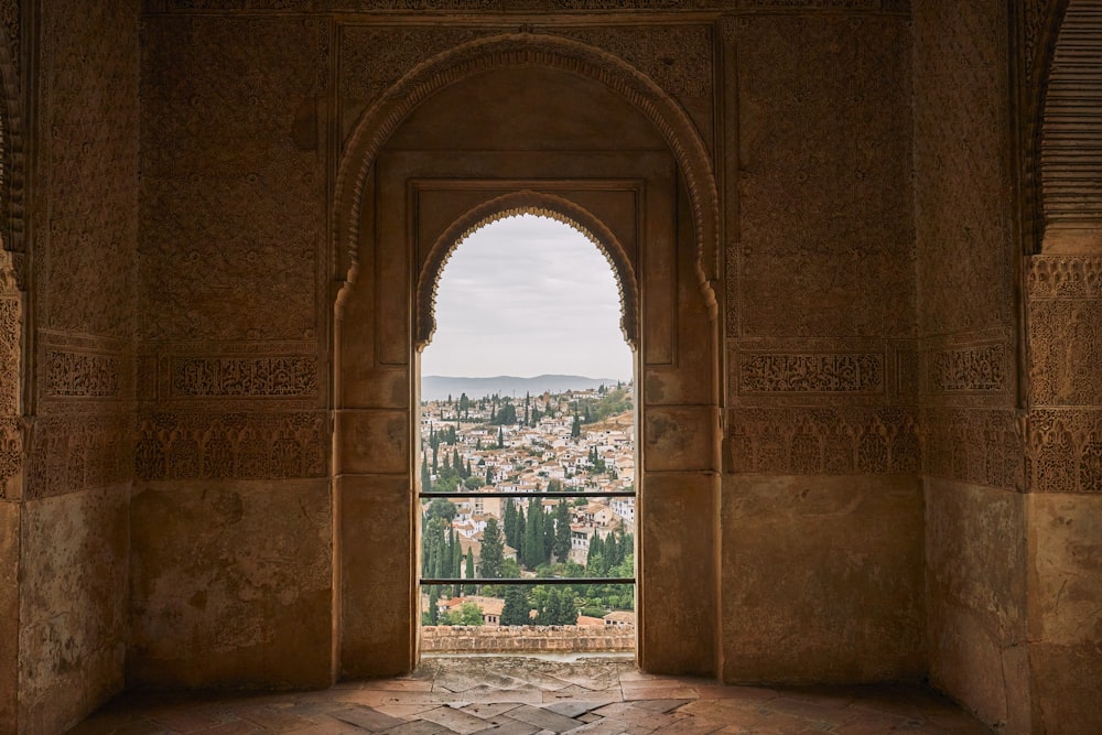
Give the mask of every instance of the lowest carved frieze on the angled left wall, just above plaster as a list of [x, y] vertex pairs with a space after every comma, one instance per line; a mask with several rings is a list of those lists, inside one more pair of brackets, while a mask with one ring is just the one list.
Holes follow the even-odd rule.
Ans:
[[126, 417], [39, 417], [30, 426], [26, 497], [43, 498], [125, 483], [132, 433]]

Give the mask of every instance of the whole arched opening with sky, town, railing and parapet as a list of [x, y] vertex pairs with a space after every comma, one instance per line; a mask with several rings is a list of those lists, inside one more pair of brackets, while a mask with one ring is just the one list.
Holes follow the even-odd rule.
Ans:
[[422, 355], [422, 652], [634, 651], [619, 309], [603, 253], [548, 217], [485, 225], [445, 266]]

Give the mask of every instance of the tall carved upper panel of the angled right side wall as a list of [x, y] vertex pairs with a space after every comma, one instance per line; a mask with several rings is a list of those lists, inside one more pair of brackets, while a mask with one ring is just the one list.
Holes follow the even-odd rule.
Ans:
[[914, 6], [921, 334], [1015, 323], [1005, 12], [1006, 3], [996, 2]]

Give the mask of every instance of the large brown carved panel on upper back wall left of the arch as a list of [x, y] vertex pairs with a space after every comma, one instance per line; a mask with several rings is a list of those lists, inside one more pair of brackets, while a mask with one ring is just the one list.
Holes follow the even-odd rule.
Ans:
[[316, 338], [324, 161], [291, 125], [324, 90], [328, 36], [293, 17], [145, 20], [147, 339]]

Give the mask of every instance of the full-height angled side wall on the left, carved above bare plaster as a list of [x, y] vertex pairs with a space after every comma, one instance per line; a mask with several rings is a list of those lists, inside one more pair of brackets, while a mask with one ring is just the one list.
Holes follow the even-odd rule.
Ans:
[[24, 317], [34, 367], [15, 732], [56, 733], [123, 685], [140, 3], [22, 10], [36, 54]]

